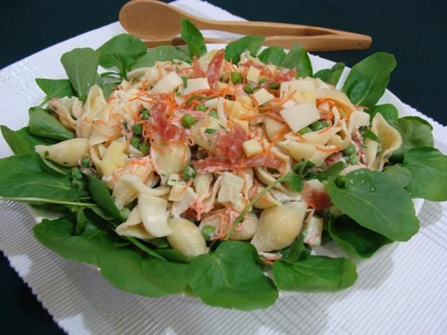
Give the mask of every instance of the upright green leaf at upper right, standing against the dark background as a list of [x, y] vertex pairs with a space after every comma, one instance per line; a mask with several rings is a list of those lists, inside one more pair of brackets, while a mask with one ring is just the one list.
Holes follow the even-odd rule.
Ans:
[[354, 105], [372, 108], [383, 95], [395, 67], [392, 54], [376, 52], [353, 66], [343, 91]]

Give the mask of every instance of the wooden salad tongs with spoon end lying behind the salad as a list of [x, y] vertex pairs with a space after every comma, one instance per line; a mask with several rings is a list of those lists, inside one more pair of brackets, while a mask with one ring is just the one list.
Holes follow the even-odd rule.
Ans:
[[[142, 38], [149, 46], [184, 44], [177, 38], [180, 20], [186, 18], [198, 29], [229, 31], [242, 35], [267, 36], [265, 45], [290, 48], [300, 43], [308, 51], [367, 49], [371, 37], [334, 29], [300, 24], [247, 21], [205, 20], [154, 0], [134, 0], [119, 11], [119, 22], [130, 34]], [[230, 40], [205, 38], [207, 43], [229, 43]]]

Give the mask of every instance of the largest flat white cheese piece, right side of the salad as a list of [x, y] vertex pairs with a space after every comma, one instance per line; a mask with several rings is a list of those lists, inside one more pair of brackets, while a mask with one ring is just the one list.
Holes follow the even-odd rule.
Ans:
[[294, 133], [320, 119], [320, 113], [314, 103], [299, 103], [281, 110], [279, 114]]

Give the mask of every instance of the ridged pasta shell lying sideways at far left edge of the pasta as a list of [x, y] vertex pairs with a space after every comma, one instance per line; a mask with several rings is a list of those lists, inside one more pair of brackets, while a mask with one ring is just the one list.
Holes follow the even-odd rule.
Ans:
[[89, 141], [85, 138], [73, 138], [53, 145], [36, 145], [36, 152], [43, 158], [60, 165], [78, 166], [79, 159], [89, 154]]

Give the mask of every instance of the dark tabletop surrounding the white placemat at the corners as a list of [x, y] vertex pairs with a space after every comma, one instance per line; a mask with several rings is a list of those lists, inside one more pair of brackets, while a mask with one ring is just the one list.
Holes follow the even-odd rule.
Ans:
[[[391, 76], [390, 91], [420, 112], [447, 124], [444, 1], [208, 1], [247, 20], [317, 25], [372, 36], [369, 50], [319, 54], [332, 61], [344, 61], [348, 66], [372, 52], [395, 54], [397, 68]], [[0, 0], [0, 68], [117, 21], [124, 3], [124, 0]], [[63, 333], [3, 255], [0, 304], [2, 334]]]

